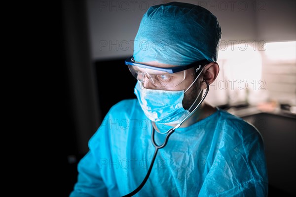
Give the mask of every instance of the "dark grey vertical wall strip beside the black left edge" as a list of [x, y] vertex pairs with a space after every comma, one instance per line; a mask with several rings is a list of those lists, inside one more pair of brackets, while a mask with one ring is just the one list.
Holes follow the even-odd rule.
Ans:
[[85, 1], [61, 0], [57, 6], [62, 62], [59, 71], [64, 75], [61, 84], [64, 110], [57, 112], [57, 116], [62, 116], [63, 127], [58, 137], [63, 143], [61, 165], [66, 177], [59, 196], [69, 196], [77, 178], [77, 162], [87, 152], [87, 141], [101, 119], [95, 67], [90, 58]]

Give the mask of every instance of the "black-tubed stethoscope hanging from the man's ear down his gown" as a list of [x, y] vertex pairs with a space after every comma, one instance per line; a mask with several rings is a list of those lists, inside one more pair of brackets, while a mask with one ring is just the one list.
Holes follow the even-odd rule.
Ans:
[[[198, 77], [197, 77], [198, 78]], [[153, 164], [154, 164], [154, 161], [155, 161], [155, 158], [156, 158], [156, 155], [157, 155], [157, 152], [158, 152], [158, 150], [159, 149], [162, 149], [163, 147], [165, 147], [166, 146], [166, 144], [168, 143], [168, 140], [169, 140], [169, 137], [170, 137], [170, 135], [171, 134], [173, 134], [173, 132], [176, 130], [176, 129], [178, 129], [184, 122], [185, 122], [185, 120], [187, 120], [197, 109], [198, 109], [198, 107], [200, 106], [200, 104], [203, 102], [203, 100], [206, 98], [206, 96], [207, 96], [207, 94], [208, 94], [208, 92], [209, 92], [209, 89], [210, 89], [210, 85], [209, 85], [209, 83], [206, 81], [206, 80], [204, 80], [204, 82], [207, 84], [207, 89], [206, 89], [206, 92], [205, 92], [205, 94], [204, 94], [204, 96], [201, 98], [201, 100], [199, 101], [199, 103], [196, 105], [196, 107], [193, 109], [193, 111], [190, 113], [190, 114], [188, 114], [188, 116], [186, 116], [185, 117], [185, 119], [183, 120], [183, 121], [181, 121], [178, 125], [176, 125], [174, 128], [171, 128], [170, 130], [168, 130], [167, 132], [165, 132], [165, 133], [167, 133], [166, 134], [166, 137], [165, 137], [165, 139], [164, 139], [164, 142], [161, 144], [161, 145], [158, 145], [156, 142], [155, 142], [155, 139], [154, 139], [154, 133], [155, 133], [155, 129], [154, 129], [154, 127], [152, 127], [152, 133], [151, 133], [151, 141], [152, 141], [152, 144], [153, 144], [153, 146], [155, 147], [155, 151], [154, 151], [154, 154], [153, 154], [153, 157], [152, 157], [152, 161], [151, 161], [151, 163], [150, 163], [150, 166], [149, 166], [149, 169], [148, 169], [148, 172], [147, 172], [147, 174], [146, 174], [146, 176], [145, 176], [145, 178], [143, 179], [143, 181], [142, 181], [142, 183], [134, 190], [134, 191], [132, 191], [131, 193], [129, 193], [129, 194], [127, 194], [127, 195], [125, 195], [125, 196], [122, 196], [122, 197], [132, 197], [132, 196], [134, 196], [135, 194], [137, 194], [142, 188], [143, 188], [143, 186], [145, 185], [145, 183], [147, 182], [147, 180], [148, 180], [148, 177], [149, 177], [149, 175], [150, 175], [150, 172], [151, 172], [151, 170], [152, 170], [152, 167], [153, 167]], [[200, 93], [201, 93], [202, 91], [200, 91]], [[197, 96], [197, 98], [199, 98], [199, 95], [200, 95], [200, 93], [198, 94], [198, 96]], [[197, 99], [196, 98], [196, 99]]]

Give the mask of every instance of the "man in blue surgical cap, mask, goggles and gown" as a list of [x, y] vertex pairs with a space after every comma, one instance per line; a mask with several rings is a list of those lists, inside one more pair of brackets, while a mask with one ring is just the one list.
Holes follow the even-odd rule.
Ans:
[[219, 73], [220, 39], [217, 18], [201, 6], [147, 10], [123, 63], [137, 99], [111, 107], [70, 197], [267, 196], [259, 131], [203, 101]]

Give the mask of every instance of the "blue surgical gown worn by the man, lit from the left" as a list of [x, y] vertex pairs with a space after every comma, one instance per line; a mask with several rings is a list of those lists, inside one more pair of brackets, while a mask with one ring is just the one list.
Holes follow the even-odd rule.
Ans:
[[[162, 125], [161, 129], [169, 129]], [[138, 100], [118, 102], [89, 140], [70, 197], [120, 197], [143, 181], [154, 153], [151, 122]], [[157, 133], [161, 143], [165, 134]], [[158, 151], [138, 197], [266, 197], [268, 178], [259, 131], [217, 108], [177, 129]]]

